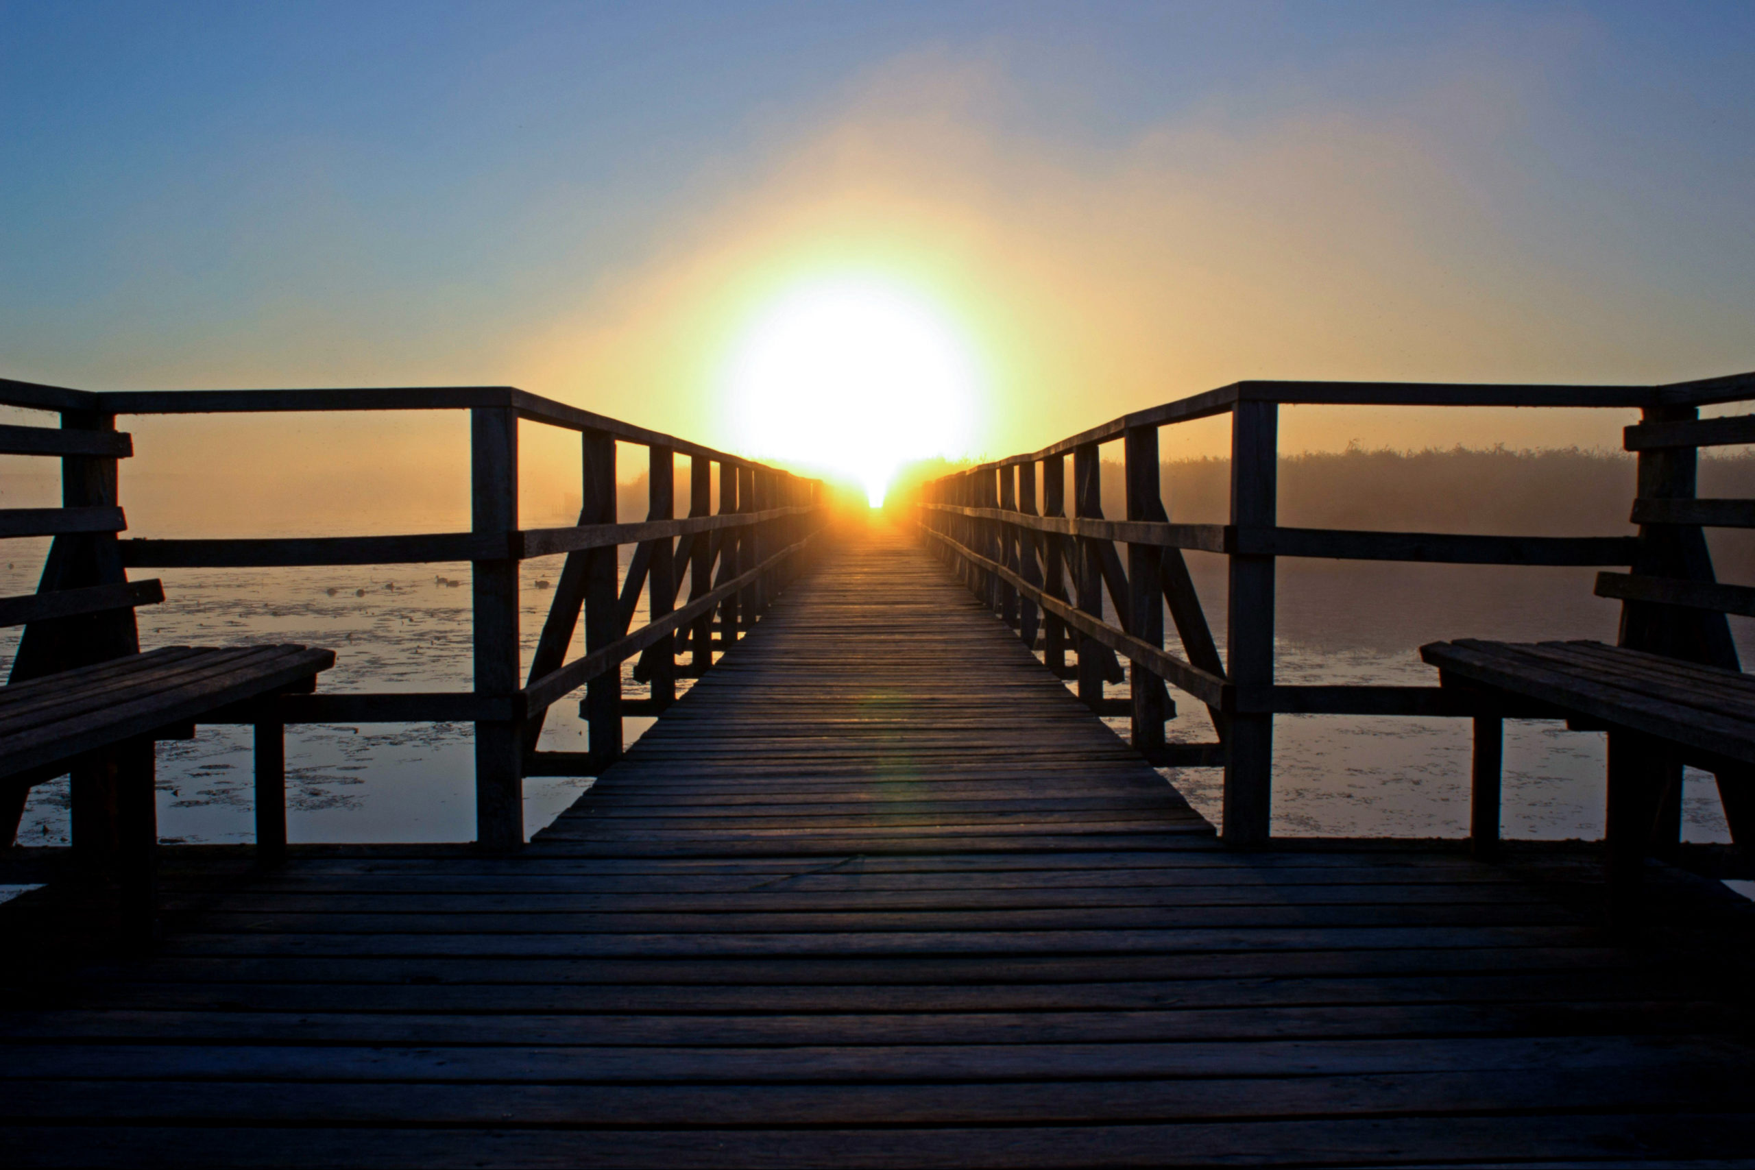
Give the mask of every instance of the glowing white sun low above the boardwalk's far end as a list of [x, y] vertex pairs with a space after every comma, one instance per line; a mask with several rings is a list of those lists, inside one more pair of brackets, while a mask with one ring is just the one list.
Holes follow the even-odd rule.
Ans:
[[793, 288], [732, 356], [737, 442], [855, 475], [883, 505], [897, 467], [969, 447], [978, 367], [928, 300], [876, 279]]

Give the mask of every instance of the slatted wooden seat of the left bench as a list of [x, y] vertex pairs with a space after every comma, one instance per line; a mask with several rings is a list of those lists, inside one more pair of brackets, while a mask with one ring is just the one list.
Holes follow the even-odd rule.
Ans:
[[[133, 661], [147, 658], [153, 656], [140, 654]], [[204, 670], [204, 661], [211, 668]], [[95, 747], [147, 735], [168, 723], [198, 719], [226, 703], [272, 695], [332, 665], [335, 665], [333, 651], [304, 646], [195, 647], [193, 656], [177, 658], [170, 665], [154, 663], [144, 670], [125, 672], [125, 677], [140, 682], [140, 688], [111, 689], [109, 700], [98, 709], [63, 712], [65, 717], [0, 733], [0, 777], [70, 761]], [[188, 668], [179, 672], [179, 667]], [[33, 682], [58, 684], [74, 691], [84, 675], [84, 670], [67, 670]], [[114, 674], [105, 679], [116, 682]], [[0, 688], [0, 700], [7, 689], [11, 688]]]

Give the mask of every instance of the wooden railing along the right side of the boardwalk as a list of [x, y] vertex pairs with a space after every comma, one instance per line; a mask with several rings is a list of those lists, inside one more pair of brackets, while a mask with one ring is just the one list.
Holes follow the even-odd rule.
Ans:
[[[1688, 444], [1755, 442], [1755, 416], [1699, 421], [1704, 405], [1748, 400], [1755, 400], [1755, 374], [1671, 386], [1237, 382], [1127, 414], [1030, 454], [930, 481], [914, 502], [916, 523], [969, 588], [1011, 623], [1027, 646], [1044, 653], [1049, 670], [1078, 679], [1079, 698], [1093, 710], [1121, 714], [1125, 703], [1132, 742], [1141, 754], [1160, 767], [1223, 765], [1223, 837], [1255, 844], [1269, 837], [1276, 714], [1479, 714], [1469, 696], [1437, 686], [1276, 684], [1276, 558], [1639, 567], [1643, 577], [1634, 581], [1662, 575], [1667, 582], [1662, 589], [1671, 593], [1678, 581], [1709, 588], [1713, 567], [1699, 526], [1727, 523], [1727, 517], [1750, 523], [1755, 503], [1694, 500], [1694, 447]], [[1639, 454], [1639, 500], [1632, 512], [1639, 535], [1494, 537], [1279, 526], [1281, 403], [1637, 409], [1643, 423], [1627, 428], [1627, 449]], [[1221, 414], [1232, 421], [1230, 521], [1169, 523], [1158, 486], [1158, 428]], [[1121, 444], [1125, 519], [1104, 516], [1099, 453], [1111, 442]], [[1125, 563], [1118, 542], [1127, 546]], [[1185, 549], [1228, 558], [1223, 656], [1195, 595]], [[1637, 626], [1646, 607], [1687, 603], [1658, 586], [1623, 589], [1623, 644], [1629, 644], [1629, 621]], [[1104, 595], [1116, 616], [1113, 621], [1104, 617]], [[1744, 589], [1739, 596], [1746, 602], [1755, 591]], [[1164, 647], [1165, 610], [1176, 624], [1183, 656]], [[1729, 635], [1720, 640], [1729, 644]], [[1683, 644], [1637, 649], [1681, 654]], [[1067, 665], [1069, 651], [1072, 667]], [[1723, 646], [1716, 646], [1720, 660], [1722, 651]], [[1116, 656], [1128, 660], [1128, 674], [1123, 675]], [[1130, 681], [1130, 698], [1104, 698], [1104, 682], [1123, 677]], [[1164, 724], [1174, 712], [1165, 684], [1206, 705], [1214, 728], [1211, 742], [1165, 742]]]

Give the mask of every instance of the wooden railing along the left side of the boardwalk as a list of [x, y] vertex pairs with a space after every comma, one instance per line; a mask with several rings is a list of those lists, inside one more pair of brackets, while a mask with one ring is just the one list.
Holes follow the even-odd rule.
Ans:
[[[337, 410], [469, 410], [470, 530], [393, 537], [140, 540], [107, 537], [112, 549], [70, 586], [125, 586], [126, 568], [286, 565], [416, 565], [470, 561], [474, 688], [437, 693], [314, 693], [277, 700], [284, 723], [474, 723], [477, 840], [523, 842], [523, 777], [595, 775], [620, 758], [625, 714], [656, 716], [676, 700], [677, 677], [709, 670], [714, 654], [755, 624], [799, 572], [821, 530], [821, 484], [674, 435], [591, 414], [509, 386], [409, 389], [239, 389], [93, 393], [0, 379], [0, 405], [54, 410], [61, 430], [0, 426], [0, 454], [61, 456], [61, 509], [0, 509], [0, 537], [61, 540], [116, 533], [118, 460], [132, 440], [126, 414], [263, 414]], [[581, 437], [583, 509], [567, 528], [518, 526], [518, 423]], [[616, 523], [616, 442], [648, 447], [649, 512]], [[688, 516], [674, 516], [676, 456], [690, 456]], [[713, 510], [718, 468], [718, 512]], [[627, 577], [620, 546], [637, 546]], [[519, 665], [518, 565], [565, 554], [528, 675]], [[60, 560], [68, 560], [63, 554]], [[54, 547], [51, 565], [58, 563]], [[679, 598], [683, 579], [688, 596]], [[641, 596], [649, 621], [632, 628]], [[681, 603], [679, 603], [681, 600]], [[0, 598], [0, 607], [28, 607]], [[40, 602], [35, 602], [42, 605]], [[56, 614], [44, 610], [44, 619]], [[579, 623], [586, 653], [567, 660]], [[32, 640], [32, 626], [25, 628]], [[40, 639], [39, 639], [40, 640]], [[646, 698], [623, 696], [621, 663]], [[679, 661], [681, 658], [681, 661]], [[537, 751], [548, 709], [584, 688], [586, 753]], [[260, 712], [239, 714], [256, 721]]]

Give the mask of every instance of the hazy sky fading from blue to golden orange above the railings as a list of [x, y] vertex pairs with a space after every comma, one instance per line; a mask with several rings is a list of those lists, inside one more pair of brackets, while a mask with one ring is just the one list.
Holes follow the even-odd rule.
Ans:
[[[956, 351], [925, 447], [999, 456], [1250, 377], [1755, 368], [1751, 210], [1746, 2], [0, 2], [0, 375], [91, 389], [516, 384], [799, 458], [748, 354], [869, 295]], [[925, 409], [855, 377], [886, 337], [795, 372], [837, 433]], [[1609, 414], [1281, 430], [1616, 446]], [[132, 430], [161, 470], [458, 451]]]

